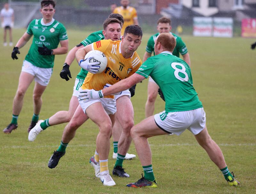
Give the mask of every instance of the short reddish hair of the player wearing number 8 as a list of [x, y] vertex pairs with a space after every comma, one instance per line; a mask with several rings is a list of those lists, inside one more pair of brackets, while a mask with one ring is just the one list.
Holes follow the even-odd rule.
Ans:
[[161, 45], [169, 51], [173, 51], [176, 46], [176, 39], [172, 34], [167, 32], [159, 34], [156, 39], [156, 44], [158, 44], [158, 42], [160, 42]]

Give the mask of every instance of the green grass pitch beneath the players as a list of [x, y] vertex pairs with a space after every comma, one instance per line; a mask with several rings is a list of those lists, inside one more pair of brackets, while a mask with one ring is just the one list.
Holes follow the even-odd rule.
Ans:
[[[13, 42], [16, 43], [24, 32], [25, 29], [15, 30]], [[68, 29], [69, 49], [90, 33]], [[141, 59], [150, 35], [143, 35], [138, 49]], [[192, 36], [182, 36], [182, 39], [191, 57], [193, 82], [204, 105], [208, 131], [220, 146], [228, 168], [234, 171], [241, 186], [228, 186], [193, 135], [185, 131], [180, 137], [149, 138], [157, 189], [125, 187], [127, 183], [137, 181], [143, 173], [138, 157], [124, 161], [130, 178], [113, 177], [116, 186], [104, 187], [94, 177], [94, 169], [89, 164], [98, 133], [90, 120], [77, 130], [59, 165], [50, 169], [48, 160], [58, 148], [66, 124], [49, 127], [35, 142], [28, 142], [27, 128], [33, 115], [32, 83], [24, 98], [18, 129], [10, 135], [0, 131], [0, 193], [256, 193], [256, 50], [250, 49], [255, 40]], [[2, 47], [0, 42], [1, 130], [11, 121], [12, 101], [31, 41], [20, 49], [19, 60], [15, 61], [11, 59], [12, 47]], [[70, 68], [72, 79], [68, 82], [61, 79], [59, 73], [65, 57], [55, 56], [52, 78], [43, 94], [40, 119], [49, 118], [59, 110], [68, 110], [79, 67], [74, 62]], [[138, 84], [136, 95], [132, 97], [135, 124], [145, 117], [147, 84], [147, 80]], [[163, 109], [164, 102], [158, 97], [155, 113]], [[113, 146], [109, 154], [110, 171], [115, 163], [112, 152]], [[136, 154], [133, 144], [129, 153]]]

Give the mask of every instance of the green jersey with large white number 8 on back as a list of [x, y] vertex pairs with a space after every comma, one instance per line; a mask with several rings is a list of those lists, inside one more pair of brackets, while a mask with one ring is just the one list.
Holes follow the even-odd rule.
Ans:
[[172, 53], [164, 51], [142, 63], [136, 73], [150, 76], [165, 98], [165, 112], [194, 110], [203, 107], [199, 101], [188, 64]]

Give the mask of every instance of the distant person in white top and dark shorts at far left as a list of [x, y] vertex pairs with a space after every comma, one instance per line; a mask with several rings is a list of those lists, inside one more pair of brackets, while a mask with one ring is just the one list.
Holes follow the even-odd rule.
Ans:
[[4, 4], [4, 8], [1, 10], [1, 25], [4, 28], [4, 46], [7, 46], [6, 33], [9, 30], [9, 45], [12, 46], [12, 28], [14, 23], [14, 11], [9, 7], [8, 3]]

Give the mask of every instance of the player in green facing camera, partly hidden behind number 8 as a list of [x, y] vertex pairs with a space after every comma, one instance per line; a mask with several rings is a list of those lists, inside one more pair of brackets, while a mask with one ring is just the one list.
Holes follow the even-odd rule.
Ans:
[[[145, 62], [148, 59], [148, 57], [151, 56], [152, 53], [155, 55], [155, 52], [154, 52], [155, 42], [154, 41], [156, 40], [156, 37], [163, 32], [170, 32], [171, 29], [172, 29], [171, 19], [162, 17], [157, 21], [158, 33], [154, 34], [153, 36], [151, 36], [149, 38], [146, 52], [143, 57], [143, 62]], [[173, 33], [171, 33], [171, 34], [176, 39], [176, 47], [174, 48], [172, 54], [177, 57], [180, 57], [180, 54], [181, 54], [183, 57], [183, 60], [190, 66], [190, 58], [189, 58], [188, 49], [187, 49], [185, 43], [181, 40], [181, 38], [179, 36], [177, 36]], [[148, 79], [148, 98], [147, 98], [147, 102], [145, 105], [146, 118], [149, 116], [152, 116], [154, 113], [155, 101], [156, 101], [158, 88], [159, 88], [159, 86], [157, 86], [156, 82], [154, 82], [154, 80], [149, 77], [149, 79]]]

